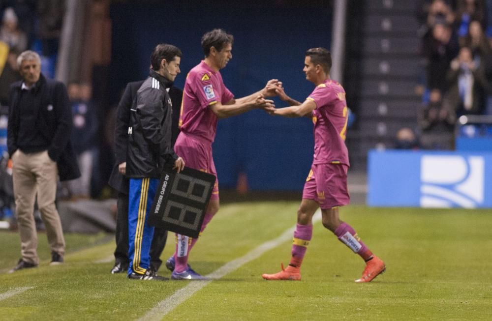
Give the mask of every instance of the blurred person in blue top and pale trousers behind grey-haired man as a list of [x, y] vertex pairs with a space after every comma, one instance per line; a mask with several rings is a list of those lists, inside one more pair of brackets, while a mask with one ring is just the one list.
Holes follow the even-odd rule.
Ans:
[[80, 178], [70, 182], [70, 193], [74, 198], [89, 198], [98, 131], [96, 109], [91, 100], [92, 87], [70, 84], [68, 93], [73, 117], [71, 138], [81, 173]]

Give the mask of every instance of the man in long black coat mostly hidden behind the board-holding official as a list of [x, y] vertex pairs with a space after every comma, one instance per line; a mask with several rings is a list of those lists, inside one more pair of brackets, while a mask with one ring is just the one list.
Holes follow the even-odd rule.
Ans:
[[[128, 179], [124, 176], [126, 170], [126, 149], [128, 144], [128, 125], [130, 122], [130, 108], [136, 96], [138, 88], [142, 86], [144, 81], [131, 82], [126, 85], [123, 96], [118, 104], [117, 120], [115, 125], [115, 150], [116, 164], [113, 167], [109, 178], [109, 185], [118, 191], [117, 201], [117, 222], [116, 222], [116, 249], [115, 249], [115, 265], [111, 269], [111, 273], [121, 273], [128, 269]], [[172, 146], [179, 134], [179, 115], [181, 100], [183, 99], [183, 90], [169, 84], [166, 88], [171, 97], [173, 106], [172, 114]], [[166, 246], [167, 231], [155, 228], [154, 237], [152, 239], [150, 256], [151, 268], [157, 272], [162, 261], [160, 255]]]

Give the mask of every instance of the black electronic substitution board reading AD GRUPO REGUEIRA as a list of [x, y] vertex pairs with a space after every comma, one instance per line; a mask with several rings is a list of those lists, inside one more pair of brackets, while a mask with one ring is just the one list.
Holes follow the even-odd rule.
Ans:
[[165, 170], [160, 178], [149, 224], [197, 238], [209, 204], [215, 176], [185, 167], [181, 173]]

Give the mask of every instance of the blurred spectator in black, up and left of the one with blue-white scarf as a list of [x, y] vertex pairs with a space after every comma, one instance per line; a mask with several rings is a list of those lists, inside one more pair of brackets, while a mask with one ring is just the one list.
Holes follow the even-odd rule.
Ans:
[[436, 24], [425, 44], [427, 58], [427, 86], [446, 90], [446, 72], [459, 46], [453, 30], [444, 24]]

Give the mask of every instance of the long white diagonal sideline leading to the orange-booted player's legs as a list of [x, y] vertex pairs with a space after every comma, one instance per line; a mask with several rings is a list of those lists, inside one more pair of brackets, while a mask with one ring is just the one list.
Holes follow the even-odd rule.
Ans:
[[[316, 223], [321, 220], [321, 211], [318, 209], [316, 213], [314, 214], [312, 218], [312, 223]], [[255, 249], [249, 251], [246, 253], [246, 255], [242, 256], [241, 258], [238, 258], [236, 260], [230, 261], [228, 263], [225, 263], [218, 269], [216, 269], [214, 272], [210, 273], [207, 275], [208, 278], [211, 278], [212, 280], [208, 281], [191, 281], [187, 286], [184, 288], [174, 292], [173, 295], [165, 298], [164, 300], [160, 301], [157, 303], [152, 310], [147, 312], [145, 316], [142, 318], [138, 319], [138, 321], [160, 321], [163, 319], [163, 317], [174, 310], [178, 305], [183, 303], [185, 300], [187, 300], [189, 297], [191, 297], [195, 292], [200, 291], [203, 287], [208, 285], [210, 282], [213, 281], [213, 279], [220, 279], [221, 277], [231, 273], [232, 271], [236, 270], [237, 268], [243, 266], [244, 264], [253, 261], [260, 256], [263, 255], [263, 253], [277, 247], [278, 245], [282, 244], [285, 241], [288, 241], [289, 239], [292, 238], [292, 234], [294, 233], [294, 230], [296, 229], [295, 226], [291, 227], [284, 233], [282, 233], [280, 236], [277, 238], [274, 238], [273, 240], [267, 241]], [[178, 281], [181, 282], [181, 281]]]

